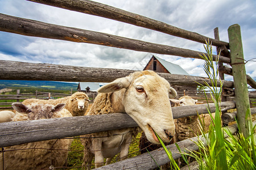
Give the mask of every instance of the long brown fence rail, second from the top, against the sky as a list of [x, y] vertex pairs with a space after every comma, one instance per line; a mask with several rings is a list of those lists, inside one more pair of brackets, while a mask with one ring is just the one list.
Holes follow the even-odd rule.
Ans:
[[[139, 52], [149, 52], [157, 54], [168, 54], [172, 56], [199, 58], [195, 50], [176, 48], [168, 45], [154, 44], [141, 40], [127, 39], [125, 37], [114, 36], [107, 33], [88, 31], [72, 27], [38, 22], [35, 20], [18, 18], [15, 16], [0, 14], [0, 31], [18, 33], [20, 35], [43, 37], [48, 39], [65, 40], [72, 42], [85, 42], [89, 44], [98, 44], [112, 46], [116, 48], [130, 49]], [[213, 55], [213, 58], [216, 58]], [[220, 57], [220, 61], [229, 63], [230, 58]]]

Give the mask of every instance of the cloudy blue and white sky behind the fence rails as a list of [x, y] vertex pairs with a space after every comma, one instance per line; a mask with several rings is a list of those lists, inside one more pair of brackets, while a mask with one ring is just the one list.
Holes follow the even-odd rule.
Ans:
[[[228, 42], [228, 27], [232, 24], [240, 24], [244, 57], [246, 60], [256, 57], [256, 1], [254, 0], [97, 0], [96, 2], [212, 38], [214, 38], [213, 29], [218, 27], [220, 40], [226, 42]], [[198, 42], [25, 0], [0, 0], [0, 13], [205, 52], [203, 44]], [[214, 46], [213, 50], [216, 50]], [[154, 55], [180, 65], [191, 75], [205, 76], [201, 59]], [[0, 32], [0, 59], [11, 61], [141, 70], [151, 56], [152, 54], [145, 52], [108, 46]], [[246, 63], [246, 73], [254, 80], [256, 79], [255, 66], [256, 62]], [[226, 78], [230, 79], [229, 76]]]

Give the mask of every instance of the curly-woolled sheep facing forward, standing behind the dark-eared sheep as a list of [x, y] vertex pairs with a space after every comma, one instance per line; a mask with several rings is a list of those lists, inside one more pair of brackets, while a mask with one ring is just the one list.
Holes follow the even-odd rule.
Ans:
[[89, 106], [89, 97], [84, 92], [75, 92], [71, 96], [62, 97], [60, 99], [50, 99], [50, 100], [40, 100], [40, 99], [26, 99], [22, 103], [42, 103], [42, 104], [67, 104], [65, 109], [67, 109], [72, 116], [84, 116], [88, 106]]

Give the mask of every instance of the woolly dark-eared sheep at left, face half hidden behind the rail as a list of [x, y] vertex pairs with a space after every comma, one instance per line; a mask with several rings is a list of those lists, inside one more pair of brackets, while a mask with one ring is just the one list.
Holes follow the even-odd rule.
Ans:
[[[13, 121], [72, 117], [64, 107], [64, 103], [57, 105], [13, 103], [13, 108], [17, 111]], [[5, 147], [5, 152], [0, 155], [0, 169], [42, 169], [63, 166], [71, 142], [72, 139], [52, 139]]]

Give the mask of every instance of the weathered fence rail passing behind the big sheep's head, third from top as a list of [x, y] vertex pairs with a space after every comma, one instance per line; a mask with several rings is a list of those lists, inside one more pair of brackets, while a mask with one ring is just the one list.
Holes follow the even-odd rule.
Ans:
[[[0, 60], [0, 79], [2, 80], [54, 80], [63, 82], [102, 82], [109, 83], [117, 78], [133, 73], [135, 70], [103, 69], [46, 63], [28, 63]], [[158, 73], [172, 86], [199, 86], [210, 83], [208, 78], [192, 75]], [[198, 83], [196, 83], [198, 82]], [[220, 86], [220, 83], [217, 84]], [[233, 82], [224, 81], [223, 87], [233, 88]]]

